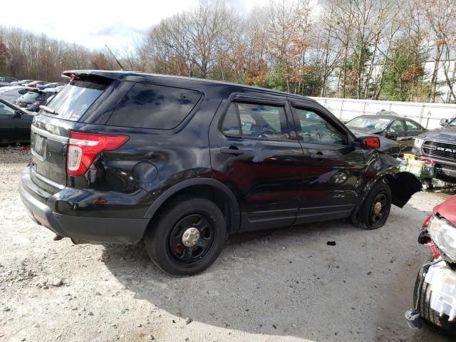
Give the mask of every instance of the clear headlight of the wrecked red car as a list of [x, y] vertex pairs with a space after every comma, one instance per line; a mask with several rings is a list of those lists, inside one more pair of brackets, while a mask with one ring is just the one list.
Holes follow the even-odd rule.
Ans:
[[427, 232], [434, 242], [435, 246], [440, 249], [452, 262], [456, 261], [456, 227], [450, 224], [446, 219], [440, 219], [432, 215]]

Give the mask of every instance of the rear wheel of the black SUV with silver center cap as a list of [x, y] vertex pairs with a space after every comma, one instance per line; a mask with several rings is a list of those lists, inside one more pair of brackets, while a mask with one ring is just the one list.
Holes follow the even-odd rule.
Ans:
[[227, 224], [216, 204], [204, 198], [178, 197], [152, 219], [145, 247], [163, 271], [191, 276], [217, 259], [226, 235]]

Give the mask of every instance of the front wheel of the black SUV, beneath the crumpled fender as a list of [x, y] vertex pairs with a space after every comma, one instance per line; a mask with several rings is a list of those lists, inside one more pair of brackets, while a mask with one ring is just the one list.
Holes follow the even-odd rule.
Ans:
[[390, 215], [391, 190], [384, 182], [376, 182], [364, 199], [353, 223], [363, 229], [383, 227]]

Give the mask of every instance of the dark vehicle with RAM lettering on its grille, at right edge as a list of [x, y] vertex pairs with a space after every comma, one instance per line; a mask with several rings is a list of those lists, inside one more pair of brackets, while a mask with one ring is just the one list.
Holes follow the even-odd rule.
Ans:
[[456, 182], [456, 118], [440, 120], [442, 128], [430, 130], [415, 138], [412, 153], [434, 160], [436, 177], [446, 182]]

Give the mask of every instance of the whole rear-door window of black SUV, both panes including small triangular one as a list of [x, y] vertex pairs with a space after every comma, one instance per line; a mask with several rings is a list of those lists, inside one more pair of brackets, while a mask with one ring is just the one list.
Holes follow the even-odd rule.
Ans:
[[290, 138], [284, 107], [259, 103], [231, 103], [222, 133], [244, 138]]

